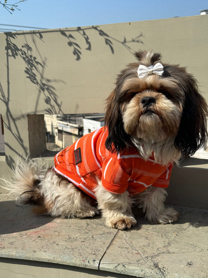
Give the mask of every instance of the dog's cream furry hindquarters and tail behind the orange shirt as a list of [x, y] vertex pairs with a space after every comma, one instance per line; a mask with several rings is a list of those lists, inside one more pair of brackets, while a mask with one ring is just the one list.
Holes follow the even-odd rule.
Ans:
[[[8, 194], [16, 197], [17, 205], [25, 205], [33, 192], [41, 195], [44, 199], [43, 208], [51, 216], [66, 218], [92, 217], [99, 213], [92, 206], [91, 198], [80, 191], [72, 183], [60, 179], [55, 172], [48, 170], [46, 164], [38, 160], [21, 161], [17, 159], [16, 167], [11, 180], [1, 179], [2, 186]], [[34, 181], [39, 180], [38, 187]]]

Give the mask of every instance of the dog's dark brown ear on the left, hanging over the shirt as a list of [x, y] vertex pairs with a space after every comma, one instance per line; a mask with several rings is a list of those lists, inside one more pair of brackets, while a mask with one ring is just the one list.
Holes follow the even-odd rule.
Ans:
[[108, 129], [108, 136], [105, 147], [110, 152], [118, 153], [128, 145], [130, 136], [124, 131], [120, 104], [116, 95], [114, 89], [106, 99], [105, 126]]

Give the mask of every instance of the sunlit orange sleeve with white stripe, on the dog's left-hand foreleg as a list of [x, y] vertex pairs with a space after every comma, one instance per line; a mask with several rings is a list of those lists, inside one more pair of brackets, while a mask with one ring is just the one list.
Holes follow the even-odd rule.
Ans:
[[123, 193], [128, 187], [130, 175], [120, 165], [118, 159], [105, 157], [102, 165], [102, 185], [112, 193]]

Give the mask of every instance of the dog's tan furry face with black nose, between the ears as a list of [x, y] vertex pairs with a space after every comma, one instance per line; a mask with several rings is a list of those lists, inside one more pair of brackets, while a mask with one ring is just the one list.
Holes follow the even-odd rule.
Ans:
[[157, 75], [124, 81], [120, 110], [125, 132], [152, 143], [175, 136], [183, 100], [183, 94], [173, 81], [169, 80], [167, 84]]

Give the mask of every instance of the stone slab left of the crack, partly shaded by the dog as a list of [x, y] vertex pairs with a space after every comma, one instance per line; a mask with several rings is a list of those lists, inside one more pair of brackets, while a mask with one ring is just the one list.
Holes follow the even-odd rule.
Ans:
[[100, 217], [36, 216], [0, 194], [0, 256], [97, 269], [116, 230]]

